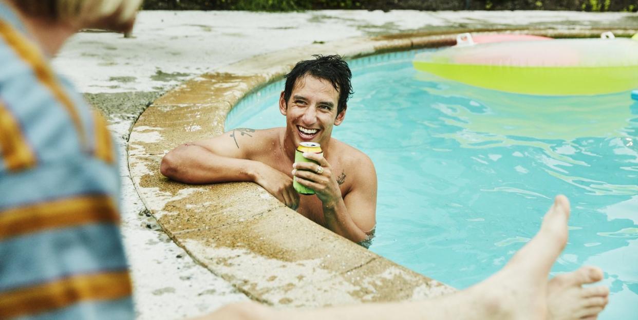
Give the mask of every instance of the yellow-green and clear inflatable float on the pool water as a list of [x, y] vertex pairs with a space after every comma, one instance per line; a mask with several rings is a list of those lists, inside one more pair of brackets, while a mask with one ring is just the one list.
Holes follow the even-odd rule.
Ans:
[[414, 68], [476, 87], [547, 96], [638, 87], [638, 41], [627, 38], [500, 41], [417, 54]]

